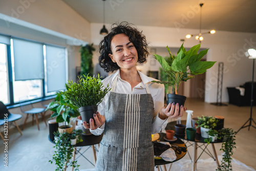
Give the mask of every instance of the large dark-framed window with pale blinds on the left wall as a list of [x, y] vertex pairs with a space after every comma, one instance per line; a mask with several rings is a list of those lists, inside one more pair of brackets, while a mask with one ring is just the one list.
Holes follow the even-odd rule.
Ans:
[[65, 90], [65, 47], [0, 35], [0, 100], [6, 105]]

